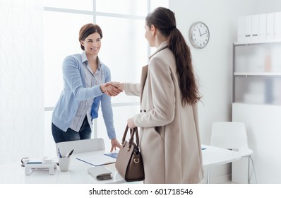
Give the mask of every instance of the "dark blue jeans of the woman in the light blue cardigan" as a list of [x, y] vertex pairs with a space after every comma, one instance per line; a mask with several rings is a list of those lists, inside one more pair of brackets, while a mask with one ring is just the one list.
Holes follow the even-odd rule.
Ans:
[[79, 130], [79, 132], [74, 131], [71, 128], [68, 128], [66, 132], [59, 129], [52, 123], [52, 134], [54, 137], [54, 141], [56, 143], [61, 141], [73, 141], [80, 139], [90, 139], [92, 136], [92, 130], [88, 123], [87, 117], [85, 117], [83, 124]]

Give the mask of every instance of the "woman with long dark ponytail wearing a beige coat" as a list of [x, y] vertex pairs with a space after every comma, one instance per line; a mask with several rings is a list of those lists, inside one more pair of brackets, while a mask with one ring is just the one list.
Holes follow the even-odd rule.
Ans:
[[128, 119], [128, 127], [140, 127], [144, 182], [201, 182], [200, 95], [174, 13], [167, 8], [149, 13], [145, 37], [157, 51], [143, 67], [140, 83], [114, 83], [127, 95], [140, 96], [140, 113]]

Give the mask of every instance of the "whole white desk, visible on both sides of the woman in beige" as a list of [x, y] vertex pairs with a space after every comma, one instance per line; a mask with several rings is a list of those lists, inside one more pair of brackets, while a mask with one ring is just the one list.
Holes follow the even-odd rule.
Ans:
[[[210, 168], [213, 165], [220, 165], [238, 160], [241, 156], [234, 151], [229, 151], [224, 148], [202, 145], [206, 148], [202, 151], [203, 166]], [[48, 170], [34, 170], [30, 175], [25, 175], [25, 170], [20, 167], [21, 163], [6, 163], [0, 165], [0, 183], [31, 183], [31, 184], [68, 184], [68, 183], [122, 183], [124, 179], [115, 170], [115, 165], [107, 165], [106, 167], [112, 171], [112, 180], [98, 181], [88, 174], [87, 169], [92, 167], [88, 163], [78, 161], [76, 157], [101, 155], [104, 151], [95, 151], [89, 153], [78, 153], [71, 156], [71, 165], [68, 172], [61, 172], [59, 168], [54, 171], [54, 175], [49, 175]], [[208, 175], [209, 181], [209, 175]]]

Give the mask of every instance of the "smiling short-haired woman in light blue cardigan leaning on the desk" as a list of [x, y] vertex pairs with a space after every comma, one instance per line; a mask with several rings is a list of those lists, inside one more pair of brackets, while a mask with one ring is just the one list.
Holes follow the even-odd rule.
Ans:
[[111, 81], [110, 70], [97, 56], [101, 39], [100, 26], [92, 23], [83, 25], [79, 31], [83, 52], [64, 59], [64, 90], [52, 115], [52, 135], [56, 143], [90, 139], [92, 119], [97, 118], [101, 102], [104, 123], [111, 139], [111, 151], [116, 147], [120, 148], [113, 124], [110, 96], [118, 95], [121, 90], [107, 83]]

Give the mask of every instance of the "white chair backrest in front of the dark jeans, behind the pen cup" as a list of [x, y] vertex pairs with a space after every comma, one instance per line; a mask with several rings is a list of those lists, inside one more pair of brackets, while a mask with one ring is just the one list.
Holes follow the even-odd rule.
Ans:
[[56, 143], [56, 153], [58, 155], [58, 148], [61, 155], [65, 155], [68, 151], [74, 149], [73, 153], [83, 153], [90, 151], [104, 150], [104, 139], [82, 139], [76, 141], [63, 141]]

